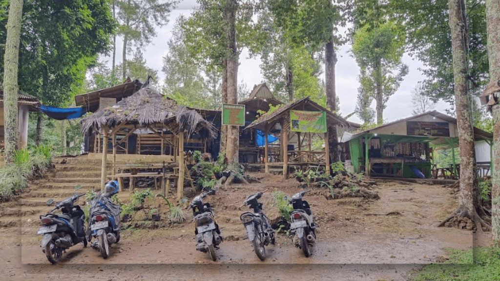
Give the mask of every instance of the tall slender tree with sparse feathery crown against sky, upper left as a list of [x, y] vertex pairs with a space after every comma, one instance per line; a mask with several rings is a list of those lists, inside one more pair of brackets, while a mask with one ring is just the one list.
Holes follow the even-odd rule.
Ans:
[[116, 0], [119, 7], [116, 18], [120, 22], [120, 33], [123, 35], [122, 80], [125, 80], [126, 54], [132, 46], [138, 48], [151, 42], [156, 36], [155, 27], [168, 23], [168, 14], [174, 1], [160, 0]]

